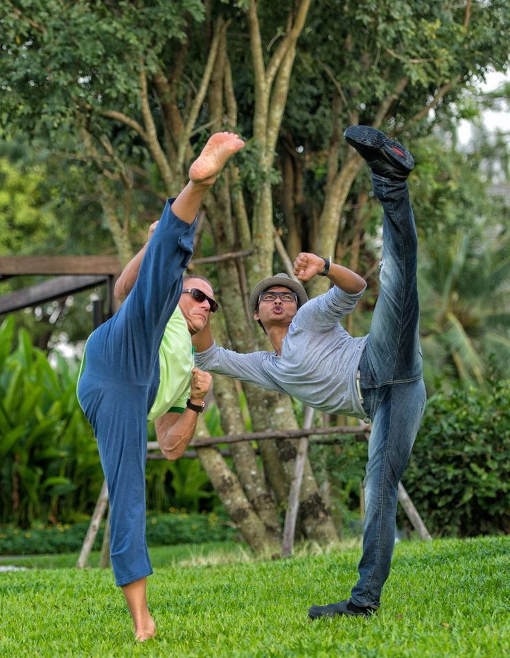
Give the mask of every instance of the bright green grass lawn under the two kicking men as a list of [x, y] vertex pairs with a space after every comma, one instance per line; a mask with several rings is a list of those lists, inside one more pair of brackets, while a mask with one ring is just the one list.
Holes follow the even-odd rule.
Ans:
[[0, 573], [0, 656], [510, 655], [510, 537], [398, 543], [376, 616], [313, 623], [309, 605], [348, 596], [359, 548], [251, 562], [175, 548], [152, 549], [173, 566], [149, 579], [159, 636], [143, 644], [109, 571]]

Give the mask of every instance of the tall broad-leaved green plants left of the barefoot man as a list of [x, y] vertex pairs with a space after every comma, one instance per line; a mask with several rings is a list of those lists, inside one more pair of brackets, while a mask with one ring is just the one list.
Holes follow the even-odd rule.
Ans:
[[54, 371], [28, 332], [15, 343], [13, 327], [13, 317], [0, 326], [0, 519], [68, 520], [91, 511], [103, 480], [76, 368], [60, 360]]

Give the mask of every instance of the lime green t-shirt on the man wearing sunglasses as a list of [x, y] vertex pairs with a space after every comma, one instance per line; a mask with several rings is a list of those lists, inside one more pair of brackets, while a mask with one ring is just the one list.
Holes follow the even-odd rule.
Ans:
[[159, 388], [148, 414], [150, 421], [168, 411], [184, 411], [194, 365], [191, 335], [184, 315], [177, 306], [159, 346]]

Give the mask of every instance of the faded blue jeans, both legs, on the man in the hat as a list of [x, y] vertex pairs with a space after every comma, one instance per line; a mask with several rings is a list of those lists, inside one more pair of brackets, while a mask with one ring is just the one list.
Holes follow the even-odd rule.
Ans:
[[407, 183], [373, 174], [383, 205], [380, 292], [360, 361], [364, 410], [372, 421], [360, 579], [356, 605], [374, 609], [389, 575], [395, 544], [398, 482], [409, 460], [425, 408], [416, 289], [417, 237]]

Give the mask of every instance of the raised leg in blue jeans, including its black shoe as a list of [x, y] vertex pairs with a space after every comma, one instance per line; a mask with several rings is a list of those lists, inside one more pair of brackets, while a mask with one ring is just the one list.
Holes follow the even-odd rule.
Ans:
[[416, 288], [418, 241], [407, 189], [414, 167], [402, 144], [370, 126], [351, 126], [346, 141], [372, 171], [373, 191], [383, 205], [383, 259], [380, 292], [364, 353], [365, 388], [421, 377], [419, 303]]

